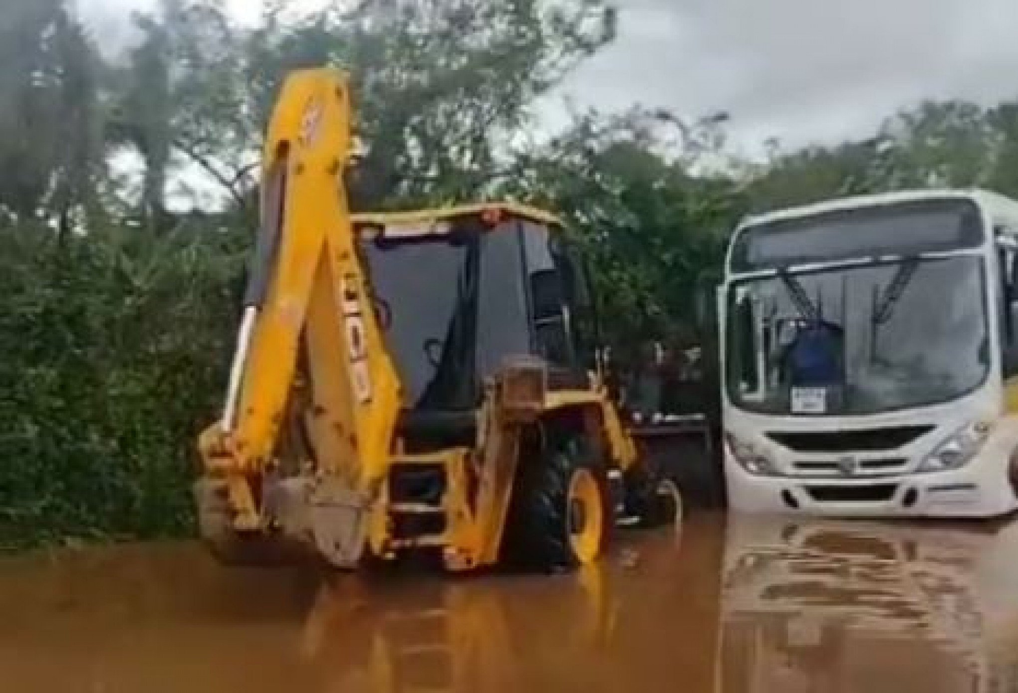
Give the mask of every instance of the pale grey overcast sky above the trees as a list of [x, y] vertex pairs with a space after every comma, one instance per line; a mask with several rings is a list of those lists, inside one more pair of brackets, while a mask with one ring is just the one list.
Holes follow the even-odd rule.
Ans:
[[[104, 31], [153, 0], [77, 0]], [[256, 15], [258, 0], [230, 0]], [[294, 0], [294, 5], [319, 0]], [[1018, 97], [1018, 0], [617, 0], [618, 41], [564, 95], [579, 106], [667, 106], [731, 114], [734, 143], [756, 150], [864, 136], [922, 98]], [[118, 21], [116, 17], [119, 16]], [[111, 17], [113, 17], [111, 19]], [[545, 111], [564, 122], [561, 99]]]

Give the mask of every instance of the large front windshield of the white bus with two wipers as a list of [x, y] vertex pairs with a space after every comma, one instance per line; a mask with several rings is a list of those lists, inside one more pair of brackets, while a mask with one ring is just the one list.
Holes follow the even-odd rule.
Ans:
[[734, 282], [731, 401], [773, 414], [947, 402], [989, 370], [981, 257], [912, 256]]

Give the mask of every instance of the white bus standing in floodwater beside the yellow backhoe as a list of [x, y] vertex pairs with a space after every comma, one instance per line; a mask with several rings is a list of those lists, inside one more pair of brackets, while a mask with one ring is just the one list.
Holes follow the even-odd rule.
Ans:
[[743, 512], [1018, 507], [1018, 201], [859, 196], [752, 217], [719, 290], [725, 478]]

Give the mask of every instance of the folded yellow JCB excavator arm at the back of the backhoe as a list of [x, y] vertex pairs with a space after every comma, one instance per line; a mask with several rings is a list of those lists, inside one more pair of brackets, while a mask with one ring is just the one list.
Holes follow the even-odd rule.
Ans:
[[352, 511], [352, 523], [333, 517], [327, 524], [346, 527], [343, 540], [351, 541], [353, 556], [363, 543], [359, 518], [390, 454], [400, 384], [342, 185], [350, 119], [344, 74], [302, 70], [284, 83], [265, 143], [262, 223], [226, 406], [222, 420], [202, 435], [200, 450], [206, 475], [226, 482], [234, 529], [265, 529], [262, 481], [299, 374], [309, 390], [305, 418], [315, 463], [302, 493], [313, 514]]

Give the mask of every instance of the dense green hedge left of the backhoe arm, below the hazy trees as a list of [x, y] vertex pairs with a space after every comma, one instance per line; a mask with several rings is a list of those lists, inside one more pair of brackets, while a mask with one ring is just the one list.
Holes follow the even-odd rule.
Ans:
[[0, 545], [188, 526], [185, 441], [214, 412], [242, 237], [0, 230]]

